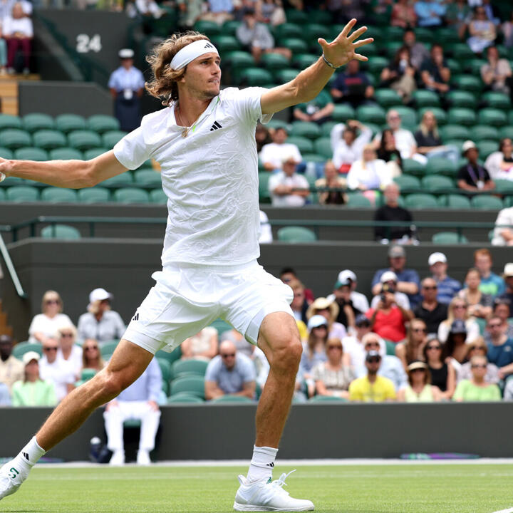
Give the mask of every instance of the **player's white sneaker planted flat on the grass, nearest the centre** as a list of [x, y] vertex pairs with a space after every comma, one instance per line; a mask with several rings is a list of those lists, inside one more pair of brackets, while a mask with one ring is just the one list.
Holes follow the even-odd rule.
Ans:
[[239, 475], [240, 487], [235, 495], [236, 511], [314, 511], [314, 503], [304, 499], [294, 499], [283, 489], [289, 474], [282, 474], [279, 480], [248, 482]]

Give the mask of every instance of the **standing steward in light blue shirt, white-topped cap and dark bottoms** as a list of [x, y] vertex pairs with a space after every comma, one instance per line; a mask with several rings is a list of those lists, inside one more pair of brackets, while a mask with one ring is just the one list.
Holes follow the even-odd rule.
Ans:
[[145, 78], [133, 65], [134, 51], [131, 48], [123, 48], [118, 56], [120, 66], [110, 75], [108, 87], [114, 99], [114, 113], [120, 122], [120, 129], [131, 132], [141, 122], [140, 98], [144, 93]]

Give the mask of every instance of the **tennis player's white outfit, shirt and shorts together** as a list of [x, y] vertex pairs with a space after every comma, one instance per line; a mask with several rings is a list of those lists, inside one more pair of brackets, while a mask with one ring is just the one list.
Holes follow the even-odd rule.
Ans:
[[212, 98], [187, 137], [175, 105], [142, 119], [114, 147], [130, 170], [154, 158], [162, 168], [167, 227], [162, 272], [125, 338], [172, 351], [216, 318], [256, 343], [266, 314], [291, 313], [291, 289], [257, 264], [257, 120], [264, 88], [227, 88]]

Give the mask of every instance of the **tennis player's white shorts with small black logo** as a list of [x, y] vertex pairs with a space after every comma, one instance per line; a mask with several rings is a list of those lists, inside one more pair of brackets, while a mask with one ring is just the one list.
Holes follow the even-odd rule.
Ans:
[[267, 314], [291, 315], [292, 289], [252, 261], [239, 266], [172, 265], [152, 274], [157, 282], [135, 312], [123, 338], [155, 354], [222, 318], [256, 344]]

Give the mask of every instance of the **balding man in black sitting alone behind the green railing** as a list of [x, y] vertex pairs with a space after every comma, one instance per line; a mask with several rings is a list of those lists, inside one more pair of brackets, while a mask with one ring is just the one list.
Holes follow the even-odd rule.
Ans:
[[408, 209], [399, 206], [400, 187], [392, 182], [383, 191], [385, 204], [374, 212], [374, 220], [377, 222], [405, 222], [403, 227], [384, 227], [375, 225], [374, 239], [381, 244], [412, 244], [416, 241], [412, 229], [413, 216]]

